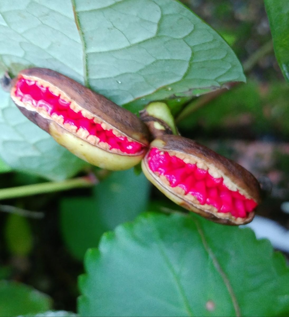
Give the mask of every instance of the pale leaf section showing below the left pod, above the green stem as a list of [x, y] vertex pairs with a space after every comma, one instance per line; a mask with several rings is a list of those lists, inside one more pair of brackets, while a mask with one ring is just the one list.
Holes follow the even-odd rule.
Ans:
[[0, 155], [16, 170], [51, 180], [69, 178], [87, 165], [24, 117], [1, 89]]

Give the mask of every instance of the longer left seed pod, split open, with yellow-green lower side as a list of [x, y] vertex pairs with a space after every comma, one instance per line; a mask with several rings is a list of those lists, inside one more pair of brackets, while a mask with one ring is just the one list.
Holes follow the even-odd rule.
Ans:
[[144, 157], [144, 123], [71, 78], [51, 69], [29, 68], [13, 79], [10, 92], [29, 120], [93, 165], [125, 170]]

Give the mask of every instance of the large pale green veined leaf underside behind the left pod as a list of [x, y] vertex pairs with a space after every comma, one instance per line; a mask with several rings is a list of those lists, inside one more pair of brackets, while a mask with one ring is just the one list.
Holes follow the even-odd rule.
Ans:
[[[1, 0], [0, 42], [0, 75], [52, 68], [120, 105], [130, 103], [132, 111], [150, 100], [182, 100], [245, 80], [228, 44], [175, 0]], [[0, 96], [1, 157], [53, 179], [79, 171], [80, 161], [8, 98]]]

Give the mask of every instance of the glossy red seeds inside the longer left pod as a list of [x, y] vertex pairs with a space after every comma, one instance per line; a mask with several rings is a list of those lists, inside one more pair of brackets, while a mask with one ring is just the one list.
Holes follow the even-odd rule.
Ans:
[[75, 127], [75, 132], [84, 129], [89, 136], [95, 136], [98, 142], [105, 142], [109, 149], [117, 149], [123, 153], [136, 154], [143, 150], [144, 146], [136, 141], [129, 141], [125, 136], [116, 136], [112, 129], [104, 129], [95, 119], [89, 119], [83, 116], [81, 111], [71, 109], [71, 102], [68, 102], [53, 94], [48, 87], [40, 85], [37, 81], [26, 78], [20, 78], [16, 83], [16, 97], [20, 97], [23, 103], [30, 103], [35, 108], [45, 109], [46, 112], [53, 116], [60, 116], [61, 123], [69, 124]]

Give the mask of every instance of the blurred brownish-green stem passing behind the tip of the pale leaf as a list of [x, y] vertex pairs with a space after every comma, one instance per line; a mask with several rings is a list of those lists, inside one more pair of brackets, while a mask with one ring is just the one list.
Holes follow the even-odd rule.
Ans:
[[[273, 51], [273, 42], [270, 40], [269, 42], [265, 43], [261, 46], [254, 54], [252, 54], [247, 61], [243, 63], [244, 72], [248, 73], [252, 68], [258, 63], [258, 61], [271, 53]], [[215, 99], [219, 95], [228, 91], [228, 89], [238, 85], [240, 82], [230, 82], [221, 89], [212, 91], [209, 94], [205, 94], [204, 96], [194, 99], [187, 104], [187, 106], [178, 114], [175, 119], [176, 123], [179, 123], [183, 119], [185, 119], [189, 114], [195, 112], [197, 109], [201, 108], [202, 106], [206, 105], [209, 101]]]

